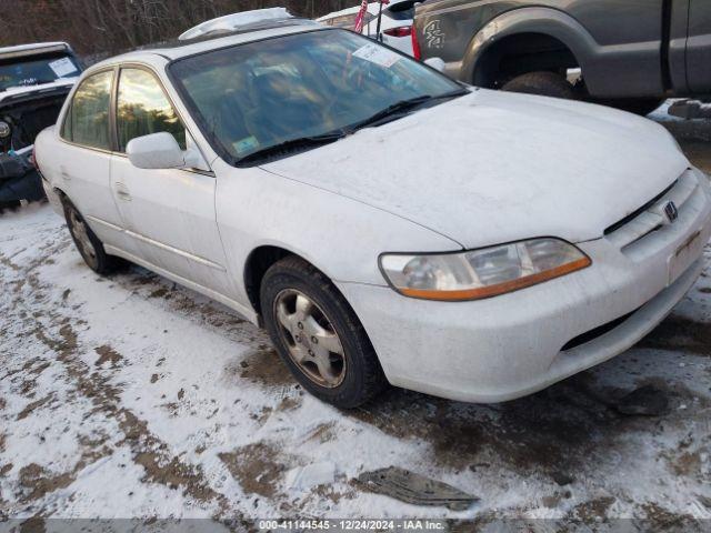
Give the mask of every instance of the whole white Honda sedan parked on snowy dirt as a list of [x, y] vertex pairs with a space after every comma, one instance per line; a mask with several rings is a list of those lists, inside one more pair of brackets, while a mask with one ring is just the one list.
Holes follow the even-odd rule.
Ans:
[[36, 158], [91, 269], [123, 258], [263, 324], [341, 408], [388, 383], [505, 401], [601, 363], [711, 237], [708, 178], [661, 127], [297, 19], [90, 68]]

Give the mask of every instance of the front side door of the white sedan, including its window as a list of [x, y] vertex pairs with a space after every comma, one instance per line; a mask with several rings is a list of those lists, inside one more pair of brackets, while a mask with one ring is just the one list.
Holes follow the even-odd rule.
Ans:
[[216, 220], [214, 175], [138, 169], [126, 155], [130, 140], [150, 133], [167, 131], [183, 150], [190, 142], [162, 84], [147, 68], [120, 70], [116, 125], [118, 152], [111, 162], [111, 189], [140, 258], [229, 296], [231, 283]]

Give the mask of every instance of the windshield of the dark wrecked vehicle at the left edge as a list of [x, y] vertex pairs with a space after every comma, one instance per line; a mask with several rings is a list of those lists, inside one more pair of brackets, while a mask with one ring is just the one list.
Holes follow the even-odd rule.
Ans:
[[11, 87], [51, 83], [60, 78], [76, 78], [79, 74], [76, 60], [64, 53], [0, 60], [0, 91]]

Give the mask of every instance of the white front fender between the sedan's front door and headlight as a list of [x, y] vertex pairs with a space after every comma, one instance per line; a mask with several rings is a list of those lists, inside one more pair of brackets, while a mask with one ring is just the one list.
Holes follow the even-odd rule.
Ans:
[[382, 286], [383, 252], [462, 249], [401, 217], [260, 168], [234, 169], [218, 160], [214, 170], [218, 227], [236, 300], [244, 305], [248, 258], [264, 245], [300, 255], [334, 282]]

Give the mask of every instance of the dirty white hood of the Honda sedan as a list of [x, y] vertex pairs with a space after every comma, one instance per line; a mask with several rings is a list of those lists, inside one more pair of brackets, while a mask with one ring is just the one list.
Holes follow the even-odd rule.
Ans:
[[647, 119], [473, 90], [262, 169], [471, 249], [544, 235], [598, 239], [688, 165], [670, 134]]

